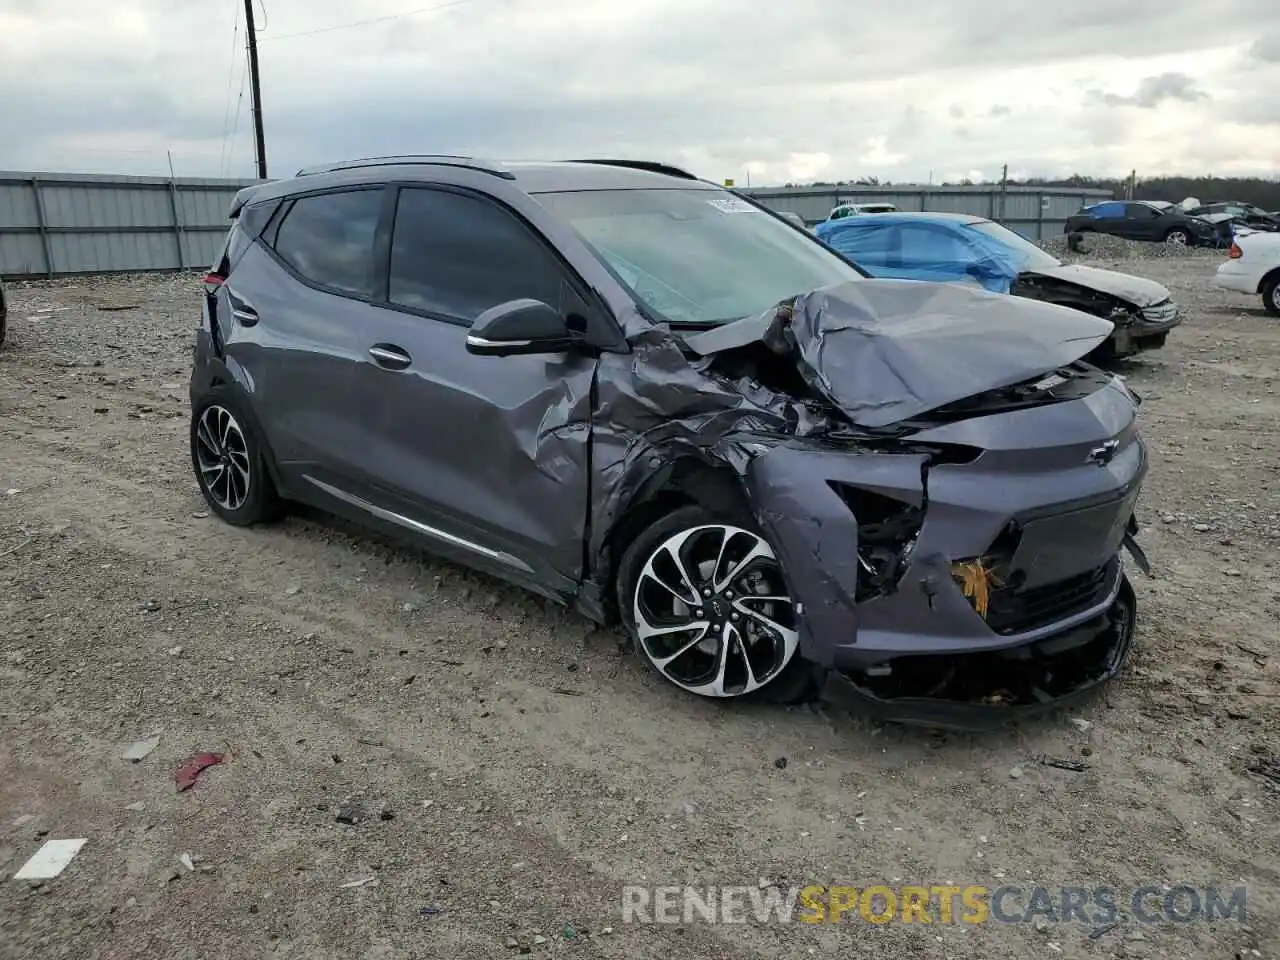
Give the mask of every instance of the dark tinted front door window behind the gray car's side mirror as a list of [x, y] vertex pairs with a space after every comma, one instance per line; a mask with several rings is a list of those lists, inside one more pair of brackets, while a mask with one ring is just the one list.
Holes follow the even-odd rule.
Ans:
[[470, 323], [524, 297], [559, 308], [563, 270], [529, 228], [495, 204], [407, 187], [396, 209], [389, 279], [392, 303]]

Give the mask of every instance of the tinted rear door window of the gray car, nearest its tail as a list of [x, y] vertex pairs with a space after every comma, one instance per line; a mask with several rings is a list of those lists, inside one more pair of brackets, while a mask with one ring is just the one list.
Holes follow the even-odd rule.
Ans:
[[311, 283], [369, 297], [381, 204], [381, 189], [302, 197], [284, 215], [275, 252]]

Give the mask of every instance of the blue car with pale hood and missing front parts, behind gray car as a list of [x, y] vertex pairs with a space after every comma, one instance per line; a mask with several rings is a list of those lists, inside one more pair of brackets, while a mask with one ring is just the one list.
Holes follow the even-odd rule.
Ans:
[[1025, 237], [972, 214], [877, 214], [818, 224], [814, 233], [872, 276], [977, 283], [992, 293], [1075, 307], [1114, 324], [1102, 355], [1162, 347], [1181, 323], [1169, 289], [1114, 270], [1064, 264]]

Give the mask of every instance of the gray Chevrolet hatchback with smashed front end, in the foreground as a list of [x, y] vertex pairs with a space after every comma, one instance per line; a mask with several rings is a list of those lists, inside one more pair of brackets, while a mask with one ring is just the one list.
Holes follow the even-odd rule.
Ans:
[[247, 188], [191, 458], [621, 620], [707, 698], [984, 726], [1114, 676], [1137, 398], [1066, 307], [873, 280], [660, 164], [384, 157]]

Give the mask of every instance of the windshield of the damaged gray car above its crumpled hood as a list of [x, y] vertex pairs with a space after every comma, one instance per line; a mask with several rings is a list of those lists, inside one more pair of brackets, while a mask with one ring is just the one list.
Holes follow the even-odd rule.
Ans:
[[672, 324], [723, 324], [863, 279], [818, 239], [724, 191], [604, 189], [538, 201]]

